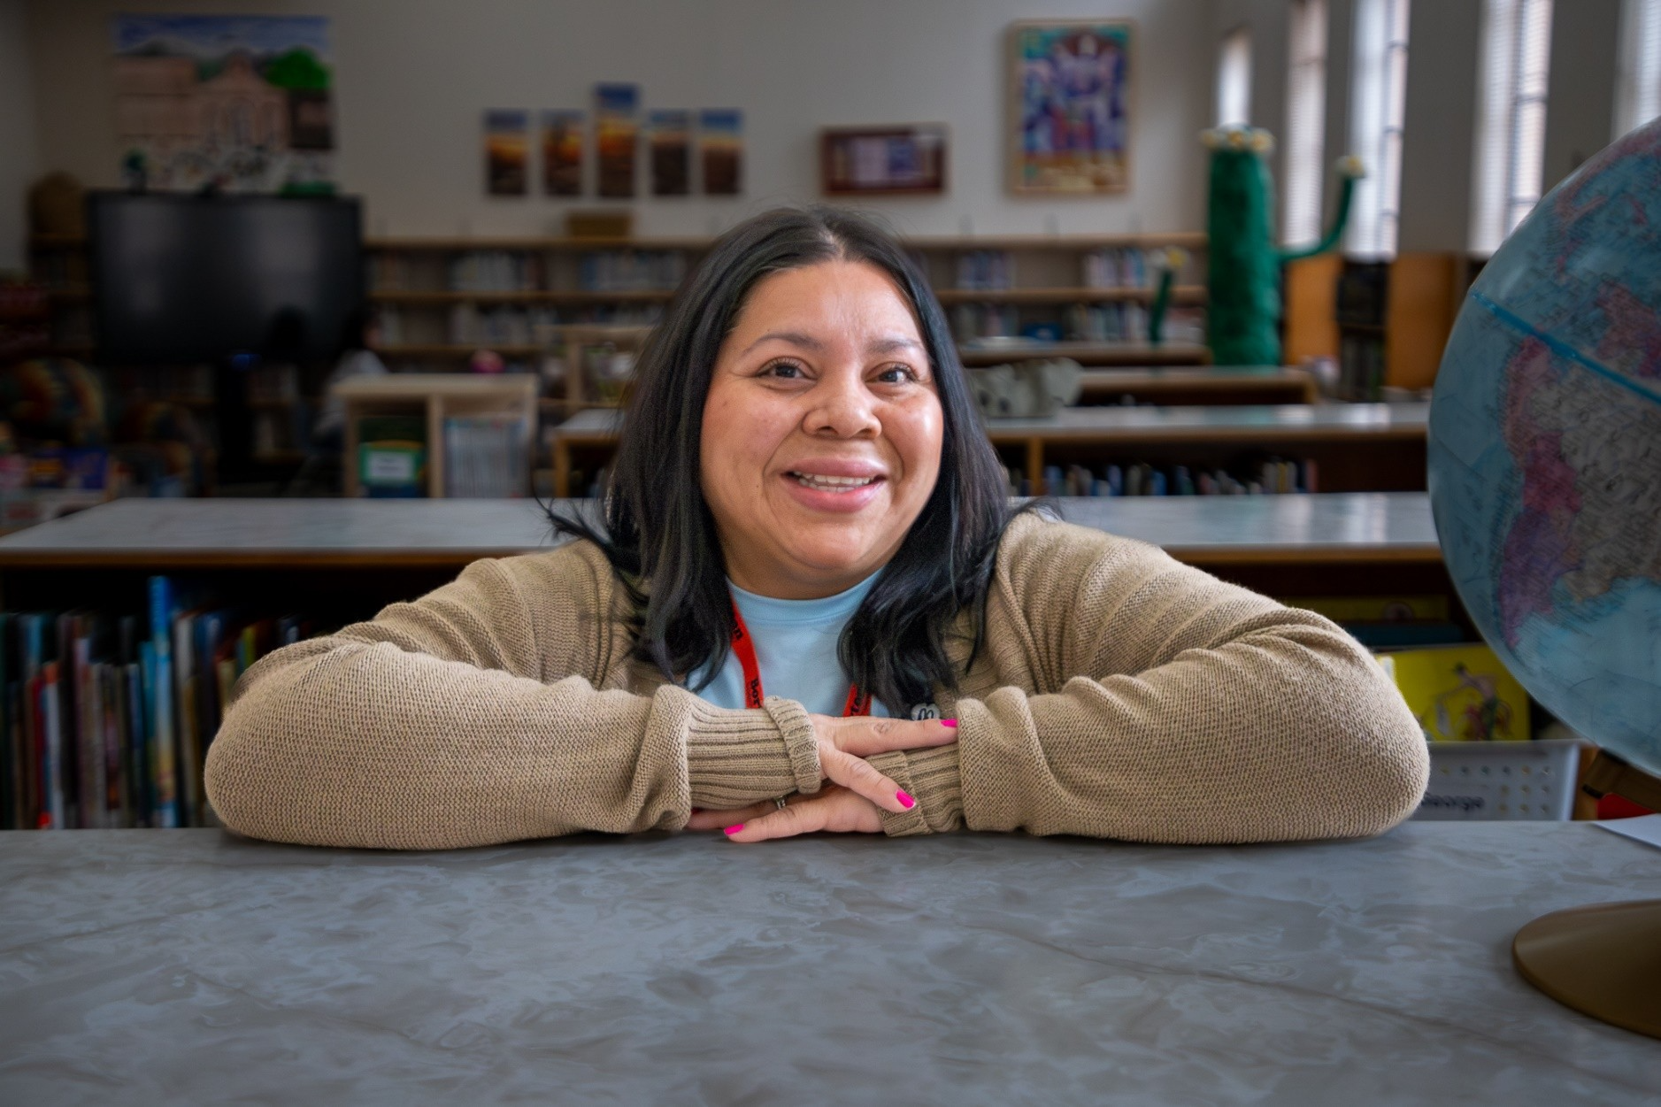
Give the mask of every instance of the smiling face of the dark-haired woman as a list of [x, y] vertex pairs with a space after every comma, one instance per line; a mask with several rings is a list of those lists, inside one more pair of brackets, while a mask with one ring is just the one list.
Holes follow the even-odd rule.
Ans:
[[804, 600], [874, 573], [933, 492], [942, 427], [917, 319], [882, 269], [759, 281], [704, 401], [699, 479], [728, 575]]

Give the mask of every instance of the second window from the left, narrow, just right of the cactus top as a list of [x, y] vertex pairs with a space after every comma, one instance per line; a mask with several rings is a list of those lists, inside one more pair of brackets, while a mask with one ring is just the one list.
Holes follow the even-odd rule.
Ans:
[[1320, 238], [1322, 131], [1327, 125], [1327, 0], [1294, 0], [1286, 80], [1286, 218], [1281, 241]]

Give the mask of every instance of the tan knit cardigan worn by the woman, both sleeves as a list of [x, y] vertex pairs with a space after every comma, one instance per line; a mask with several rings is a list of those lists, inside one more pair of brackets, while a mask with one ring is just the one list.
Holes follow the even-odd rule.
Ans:
[[[625, 615], [590, 542], [475, 562], [249, 668], [208, 796], [256, 838], [442, 849], [678, 829], [819, 788], [799, 703], [706, 703], [630, 657]], [[1377, 834], [1428, 773], [1407, 705], [1325, 618], [1031, 515], [998, 549], [985, 647], [937, 700], [957, 745], [872, 758], [919, 800], [890, 834]]]

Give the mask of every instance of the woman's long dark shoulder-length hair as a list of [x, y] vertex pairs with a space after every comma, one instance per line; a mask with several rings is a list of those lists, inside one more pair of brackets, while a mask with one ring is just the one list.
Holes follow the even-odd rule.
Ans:
[[635, 605], [638, 657], [671, 680], [719, 672], [731, 647], [733, 600], [699, 484], [709, 379], [756, 283], [824, 261], [877, 266], [900, 288], [917, 316], [943, 412], [935, 490], [837, 643], [854, 683], [904, 713], [928, 701], [935, 685], [957, 686], [943, 638], [963, 610], [973, 613], [973, 660], [1010, 510], [940, 304], [899, 243], [869, 219], [786, 208], [723, 234], [641, 351], [601, 490], [603, 527], [551, 507], [548, 517], [558, 534], [605, 550]]

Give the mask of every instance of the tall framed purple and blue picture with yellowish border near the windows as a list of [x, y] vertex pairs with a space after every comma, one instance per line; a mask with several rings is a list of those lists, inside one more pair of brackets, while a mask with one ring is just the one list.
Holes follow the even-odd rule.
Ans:
[[1101, 196], [1129, 189], [1134, 25], [1010, 25], [1010, 191]]

